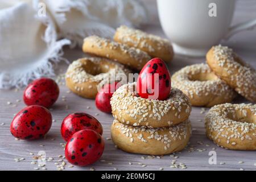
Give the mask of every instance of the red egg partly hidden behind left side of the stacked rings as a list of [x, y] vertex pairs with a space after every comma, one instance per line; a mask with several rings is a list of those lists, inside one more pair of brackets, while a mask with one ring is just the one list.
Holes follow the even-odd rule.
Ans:
[[118, 82], [114, 82], [112, 84], [106, 84], [102, 87], [102, 89], [97, 93], [95, 104], [98, 110], [104, 113], [111, 113], [111, 105], [110, 99], [113, 96], [115, 90], [117, 90], [121, 86]]

